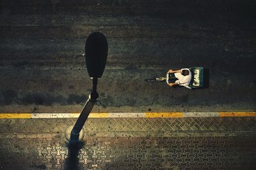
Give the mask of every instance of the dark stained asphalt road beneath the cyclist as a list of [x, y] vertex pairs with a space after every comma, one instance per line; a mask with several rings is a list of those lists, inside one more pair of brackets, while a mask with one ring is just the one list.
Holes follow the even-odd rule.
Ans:
[[[79, 112], [92, 80], [84, 44], [105, 34], [93, 111], [255, 111], [255, 1], [1, 2], [0, 112]], [[209, 87], [148, 83], [202, 66]]]

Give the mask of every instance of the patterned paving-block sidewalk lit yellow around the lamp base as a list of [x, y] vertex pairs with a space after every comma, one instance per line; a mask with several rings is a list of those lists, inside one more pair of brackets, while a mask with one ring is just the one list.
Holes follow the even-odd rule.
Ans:
[[255, 117], [1, 119], [1, 169], [255, 169]]

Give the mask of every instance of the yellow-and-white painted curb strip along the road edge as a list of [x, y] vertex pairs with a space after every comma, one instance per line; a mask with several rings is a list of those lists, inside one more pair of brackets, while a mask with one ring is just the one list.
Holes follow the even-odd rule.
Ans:
[[[80, 113], [0, 113], [0, 118], [78, 118]], [[100, 112], [89, 118], [256, 117], [256, 112]]]

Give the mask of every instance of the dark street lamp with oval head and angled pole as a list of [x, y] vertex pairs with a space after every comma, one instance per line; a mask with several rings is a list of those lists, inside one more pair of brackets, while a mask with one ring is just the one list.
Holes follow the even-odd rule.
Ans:
[[108, 41], [104, 34], [93, 32], [88, 36], [85, 43], [85, 62], [90, 78], [92, 78], [92, 92], [84, 105], [79, 118], [70, 134], [70, 143], [79, 142], [79, 133], [83, 128], [94, 104], [97, 102], [99, 94], [97, 93], [97, 81], [104, 72], [108, 58]]

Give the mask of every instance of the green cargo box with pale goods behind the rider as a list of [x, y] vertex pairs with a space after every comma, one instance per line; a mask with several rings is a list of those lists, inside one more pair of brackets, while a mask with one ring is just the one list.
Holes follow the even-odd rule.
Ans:
[[189, 68], [192, 73], [192, 80], [189, 83], [189, 87], [198, 88], [204, 85], [204, 68], [203, 67], [191, 67]]

